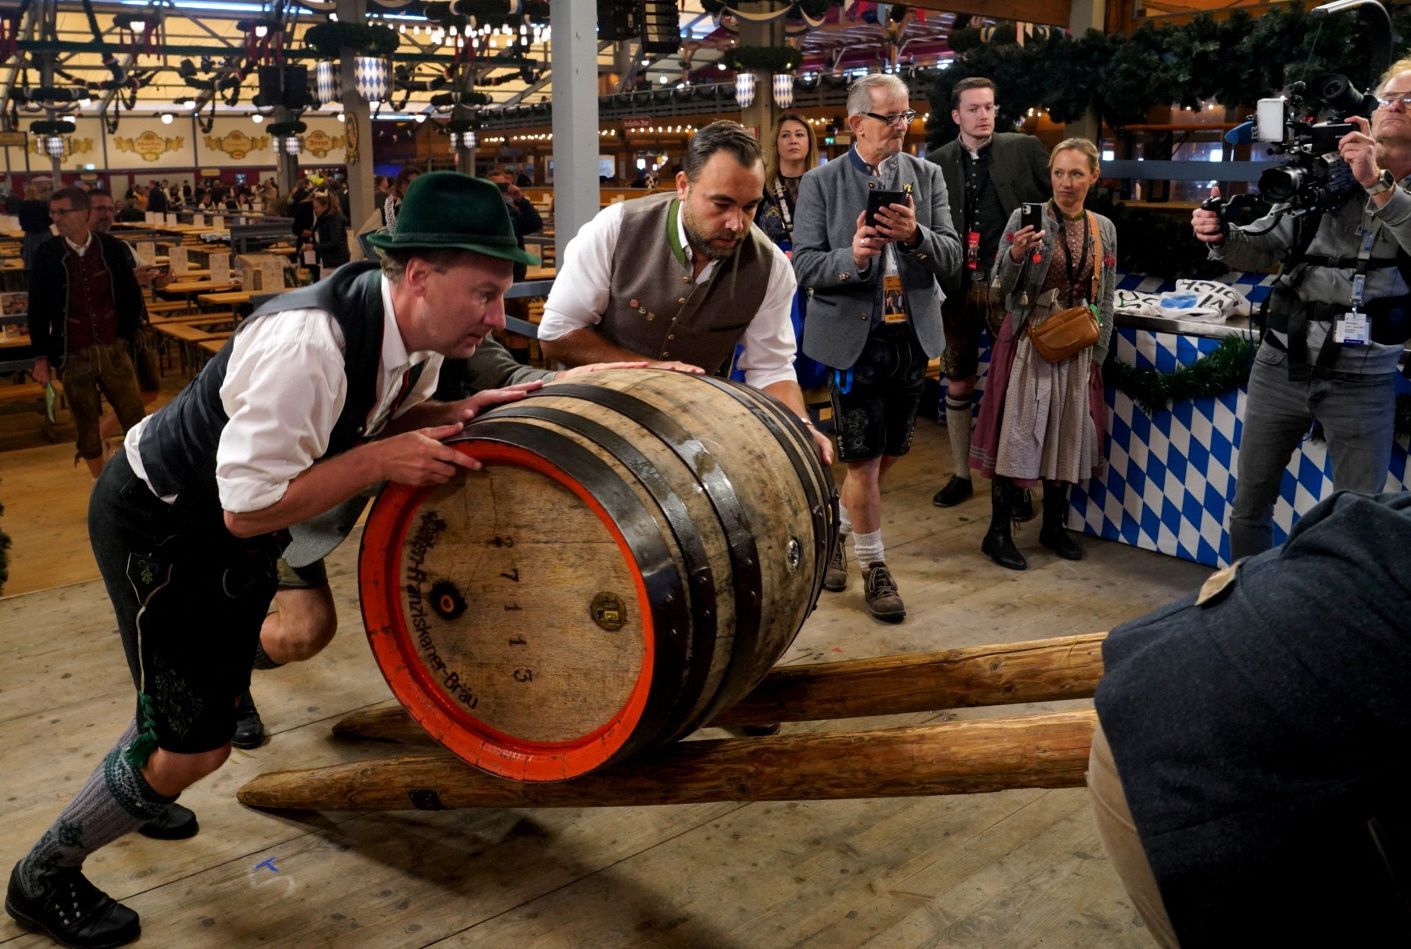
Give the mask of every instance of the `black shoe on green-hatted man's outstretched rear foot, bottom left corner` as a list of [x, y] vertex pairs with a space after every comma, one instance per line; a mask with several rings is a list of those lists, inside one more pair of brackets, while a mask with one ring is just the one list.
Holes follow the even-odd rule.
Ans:
[[135, 912], [72, 867], [47, 874], [31, 893], [20, 883], [17, 863], [10, 871], [4, 910], [25, 929], [38, 929], [71, 949], [123, 946], [143, 933]]

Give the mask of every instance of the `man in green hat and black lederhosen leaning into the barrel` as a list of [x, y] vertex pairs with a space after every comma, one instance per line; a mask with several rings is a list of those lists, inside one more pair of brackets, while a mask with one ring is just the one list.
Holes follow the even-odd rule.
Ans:
[[526, 382], [430, 393], [443, 358], [504, 326], [519, 250], [499, 190], [456, 172], [408, 189], [381, 265], [349, 264], [258, 309], [161, 412], [128, 431], [89, 534], [137, 685], [134, 716], [10, 874], [6, 911], [66, 946], [117, 946], [137, 914], [82, 873], [133, 831], [164, 835], [176, 797], [230, 754], [236, 705], [275, 591], [285, 529], [368, 485], [478, 468], [443, 444]]

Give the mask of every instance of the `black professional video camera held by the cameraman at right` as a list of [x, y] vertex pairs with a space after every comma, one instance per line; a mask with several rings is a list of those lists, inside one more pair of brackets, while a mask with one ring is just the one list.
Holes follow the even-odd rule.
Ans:
[[1273, 152], [1287, 155], [1287, 161], [1259, 176], [1260, 193], [1297, 216], [1332, 210], [1360, 192], [1348, 162], [1338, 155], [1338, 141], [1357, 127], [1318, 118], [1371, 118], [1376, 107], [1376, 96], [1357, 92], [1338, 73], [1294, 83], [1287, 100], [1260, 99], [1256, 138], [1271, 142]]

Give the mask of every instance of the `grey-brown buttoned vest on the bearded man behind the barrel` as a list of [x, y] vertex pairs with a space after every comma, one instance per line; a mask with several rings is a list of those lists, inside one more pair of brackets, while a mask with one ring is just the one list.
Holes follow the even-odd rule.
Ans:
[[728, 371], [735, 343], [769, 289], [773, 245], [751, 224], [735, 252], [696, 283], [676, 237], [679, 213], [674, 195], [626, 202], [608, 305], [597, 329], [610, 343], [650, 360]]

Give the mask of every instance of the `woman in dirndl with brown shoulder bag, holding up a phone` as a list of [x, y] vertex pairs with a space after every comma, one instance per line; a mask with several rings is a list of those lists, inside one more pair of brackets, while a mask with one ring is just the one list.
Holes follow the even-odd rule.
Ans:
[[[1005, 322], [971, 447], [971, 467], [992, 479], [993, 510], [981, 551], [1010, 570], [1029, 563], [1015, 546], [1009, 482], [1027, 488], [1043, 481], [1038, 541], [1065, 560], [1081, 560], [1082, 547], [1064, 527], [1068, 486], [1099, 474], [1103, 464], [1102, 362], [1112, 338], [1118, 231], [1084, 209], [1098, 182], [1098, 149], [1091, 141], [1058, 142], [1048, 172], [1054, 196], [1044, 204], [1043, 228], [1020, 227], [1022, 210], [1015, 210], [995, 255], [992, 285], [1005, 296]], [[1082, 305], [1094, 306], [1098, 341], [1058, 362], [1046, 361], [1029, 327]]]

